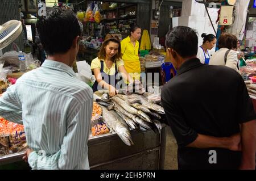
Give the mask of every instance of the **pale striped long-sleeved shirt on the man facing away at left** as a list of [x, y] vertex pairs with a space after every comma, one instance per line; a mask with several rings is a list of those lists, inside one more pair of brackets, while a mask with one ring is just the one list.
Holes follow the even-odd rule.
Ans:
[[71, 67], [46, 60], [2, 95], [0, 116], [24, 125], [32, 169], [89, 169], [92, 104], [92, 89]]

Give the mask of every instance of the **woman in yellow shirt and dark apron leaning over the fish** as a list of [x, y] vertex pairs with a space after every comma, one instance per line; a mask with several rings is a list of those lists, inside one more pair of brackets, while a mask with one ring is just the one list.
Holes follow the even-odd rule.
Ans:
[[96, 81], [93, 85], [93, 91], [100, 89], [108, 89], [109, 95], [114, 96], [117, 89], [120, 88], [118, 80], [118, 73], [122, 74], [122, 77], [126, 81], [133, 82], [132, 78], [129, 78], [129, 74], [124, 68], [123, 60], [121, 59], [121, 44], [117, 36], [106, 35], [104, 43], [101, 45], [98, 57], [94, 58], [91, 64], [91, 69], [96, 77]]

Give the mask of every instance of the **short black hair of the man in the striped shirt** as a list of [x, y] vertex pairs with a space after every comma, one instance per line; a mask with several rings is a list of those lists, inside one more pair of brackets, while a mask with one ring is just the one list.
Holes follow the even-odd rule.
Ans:
[[81, 35], [81, 25], [74, 12], [63, 7], [53, 7], [36, 23], [40, 41], [47, 54], [67, 52], [76, 36]]

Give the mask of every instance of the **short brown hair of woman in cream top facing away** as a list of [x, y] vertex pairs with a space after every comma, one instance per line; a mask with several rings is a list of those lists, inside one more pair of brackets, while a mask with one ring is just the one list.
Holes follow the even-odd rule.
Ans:
[[231, 33], [222, 33], [218, 39], [218, 48], [237, 48], [237, 37]]

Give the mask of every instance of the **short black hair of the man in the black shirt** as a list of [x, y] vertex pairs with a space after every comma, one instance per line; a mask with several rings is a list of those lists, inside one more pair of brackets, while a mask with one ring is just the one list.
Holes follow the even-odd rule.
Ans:
[[166, 47], [173, 48], [183, 58], [195, 56], [198, 49], [196, 31], [184, 26], [174, 27], [166, 35]]

